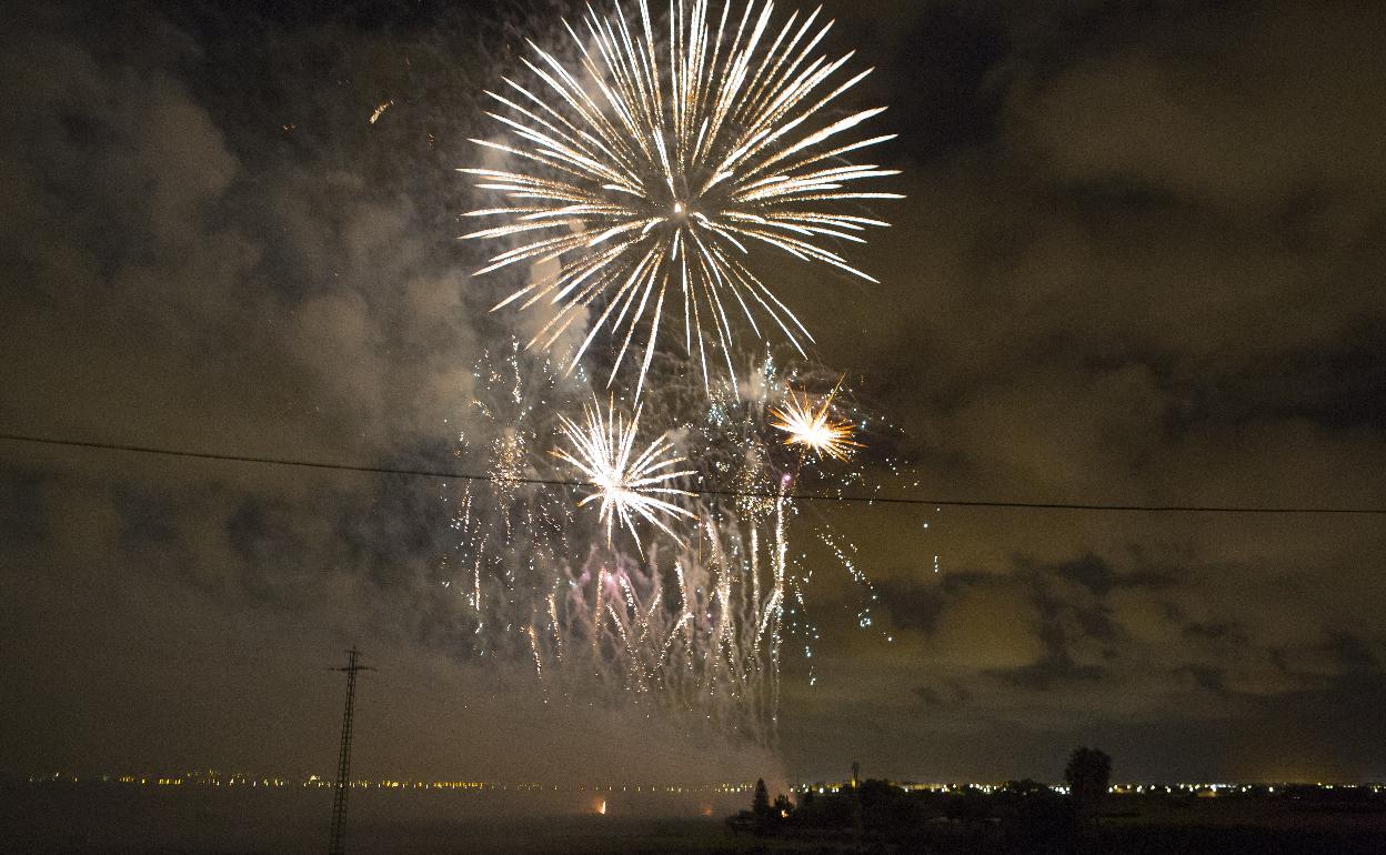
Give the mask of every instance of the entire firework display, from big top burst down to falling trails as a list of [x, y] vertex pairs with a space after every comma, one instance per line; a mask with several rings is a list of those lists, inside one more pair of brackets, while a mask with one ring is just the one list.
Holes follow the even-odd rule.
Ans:
[[[812, 527], [870, 583], [851, 542], [796, 503], [809, 455], [844, 460], [859, 443], [837, 387], [821, 399], [794, 391], [830, 377], [805, 367], [812, 337], [753, 270], [753, 249], [870, 280], [832, 247], [886, 224], [851, 206], [898, 198], [858, 190], [894, 170], [848, 157], [890, 136], [854, 130], [880, 109], [839, 109], [869, 71], [847, 76], [850, 55], [818, 53], [830, 22], [816, 11], [775, 22], [765, 0], [675, 0], [654, 18], [638, 0], [629, 15], [589, 7], [564, 26], [568, 58], [531, 43], [525, 83], [486, 93], [505, 136], [474, 140], [493, 159], [463, 170], [500, 197], [468, 215], [484, 226], [464, 237], [505, 243], [477, 273], [529, 276], [496, 309], [549, 313], [528, 342], [541, 352], [516, 345], [474, 373], [484, 418], [459, 437], [459, 457], [481, 455], [489, 478], [460, 491], [456, 561], [441, 581], [457, 585], [478, 655], [532, 661], [546, 698], [596, 685], [769, 743], [787, 639], [802, 643], [814, 682], [814, 568], [790, 552], [791, 525]], [[737, 381], [746, 324], [783, 334], [797, 356], [766, 349]], [[629, 409], [596, 395], [599, 335], [614, 341], [600, 359], [607, 387], [622, 366], [638, 370]], [[575, 346], [554, 366], [560, 340]], [[694, 482], [718, 489], [685, 489]], [[575, 513], [589, 504], [596, 514]], [[870, 626], [869, 606], [858, 624]]]

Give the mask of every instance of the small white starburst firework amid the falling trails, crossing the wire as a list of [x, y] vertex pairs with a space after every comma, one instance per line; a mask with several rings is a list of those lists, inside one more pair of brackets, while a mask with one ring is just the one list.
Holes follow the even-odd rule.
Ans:
[[679, 536], [661, 517], [692, 517], [693, 513], [660, 496], [692, 496], [693, 493], [668, 484], [675, 478], [694, 474], [693, 470], [672, 471], [672, 467], [683, 463], [683, 457], [674, 456], [674, 443], [663, 434], [644, 452], [632, 457], [640, 424], [639, 407], [629, 423], [615, 412], [614, 403], [607, 405], [604, 416], [596, 402], [585, 409], [585, 424], [559, 416], [563, 434], [572, 443], [572, 450], [560, 448], [552, 452], [554, 457], [575, 466], [584, 478], [597, 488], [597, 492], [578, 502], [578, 507], [589, 502], [602, 502], [599, 518], [606, 522], [607, 543], [611, 542], [611, 529], [620, 518], [621, 525], [631, 531], [639, 545], [639, 535], [635, 531], [636, 517], [653, 522], [678, 540]]

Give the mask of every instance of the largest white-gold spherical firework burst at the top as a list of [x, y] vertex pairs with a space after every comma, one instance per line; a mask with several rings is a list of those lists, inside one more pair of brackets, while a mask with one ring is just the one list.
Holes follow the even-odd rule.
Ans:
[[[529, 345], [550, 346], [574, 323], [593, 320], [575, 366], [599, 331], [621, 340], [615, 378], [643, 327], [644, 387], [660, 320], [683, 315], [683, 345], [708, 377], [707, 351], [732, 369], [732, 321], [744, 315], [760, 335], [768, 317], [802, 352], [812, 341], [794, 313], [747, 266], [748, 247], [768, 244], [876, 281], [827, 249], [823, 238], [865, 243], [859, 233], [887, 223], [843, 213], [843, 202], [900, 198], [855, 190], [862, 179], [897, 175], [843, 155], [894, 134], [841, 141], [841, 134], [884, 108], [830, 119], [829, 105], [870, 73], [839, 82], [851, 54], [829, 61], [815, 49], [832, 22], [818, 10], [790, 15], [776, 32], [772, 3], [732, 3], [711, 12], [707, 0], [671, 0], [668, 32], [639, 0], [628, 19], [620, 4], [603, 17], [589, 7], [585, 35], [571, 26], [581, 69], [570, 69], [534, 43], [534, 91], [510, 79], [491, 93], [503, 114], [506, 141], [473, 140], [518, 165], [463, 169], [506, 206], [468, 216], [503, 224], [463, 237], [517, 237], [477, 273], [518, 262], [557, 259], [559, 270], [496, 308], [547, 298], [553, 317]], [[567, 24], [565, 24], [567, 26]], [[658, 29], [658, 39], [656, 30]], [[582, 78], [582, 79], [579, 79]], [[669, 305], [667, 305], [667, 302]], [[610, 382], [610, 381], [608, 381]]]

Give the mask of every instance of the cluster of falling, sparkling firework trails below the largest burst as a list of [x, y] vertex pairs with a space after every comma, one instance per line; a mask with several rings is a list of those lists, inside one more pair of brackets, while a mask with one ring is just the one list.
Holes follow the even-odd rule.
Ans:
[[[529, 660], [556, 697], [590, 697], [596, 686], [772, 743], [784, 644], [797, 639], [809, 657], [816, 637], [804, 615], [812, 570], [791, 557], [790, 528], [808, 525], [869, 589], [852, 563], [855, 547], [825, 520], [802, 517], [791, 499], [804, 457], [780, 442], [771, 414], [802, 395], [791, 388], [823, 388], [832, 376], [782, 374], [766, 359], [708, 395], [674, 376], [679, 359], [658, 358], [640, 421], [665, 425], [656, 445], [685, 457], [678, 482], [730, 484], [736, 495], [674, 489], [661, 502], [678, 511], [665, 520], [632, 513], [622, 521], [636, 543], [628, 552], [607, 538], [610, 517], [574, 513], [602, 496], [592, 492], [599, 479], [572, 488], [524, 479], [585, 479], [581, 461], [550, 449], [574, 430], [614, 449], [607, 459], [625, 446], [635, 461], [636, 423], [621, 417], [620, 403], [593, 406], [581, 373], [564, 376], [518, 345], [498, 356], [474, 371], [471, 407], [484, 418], [463, 438], [463, 453], [477, 453], [492, 478], [452, 499], [449, 588], [470, 619], [474, 653]], [[588, 424], [564, 410], [585, 410]]]

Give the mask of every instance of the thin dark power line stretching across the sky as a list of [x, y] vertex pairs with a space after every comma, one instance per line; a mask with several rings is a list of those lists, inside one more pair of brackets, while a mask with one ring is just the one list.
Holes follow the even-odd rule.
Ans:
[[[590, 481], [565, 481], [561, 478], [498, 477], [492, 474], [457, 473], [449, 470], [403, 468], [391, 466], [360, 466], [353, 463], [324, 463], [320, 460], [294, 460], [291, 457], [261, 457], [254, 455], [222, 455], [215, 452], [188, 452], [180, 449], [154, 448], [147, 445], [121, 445], [115, 442], [87, 442], [78, 439], [54, 439], [50, 437], [29, 437], [22, 434], [0, 434], [10, 442], [83, 448], [107, 452], [132, 452], [139, 455], [159, 455], [164, 457], [188, 457], [194, 460], [218, 460], [225, 463], [258, 463], [266, 466], [295, 466], [302, 468], [366, 473], [374, 475], [409, 475], [417, 478], [441, 478], [453, 481], [495, 481], [506, 484], [534, 484], [539, 486], [577, 486], [600, 489]], [[725, 496], [744, 499], [779, 499], [780, 493], [771, 491], [733, 491], [721, 488], [693, 488], [689, 492], [701, 496]], [[1010, 502], [987, 499], [926, 499], [920, 496], [857, 496], [833, 493], [786, 493], [786, 499], [798, 502], [840, 502], [851, 504], [911, 504], [934, 507], [994, 507], [1021, 510], [1080, 510], [1080, 511], [1130, 511], [1130, 513], [1189, 513], [1189, 514], [1354, 514], [1386, 515], [1379, 507], [1258, 507], [1236, 504], [1105, 504], [1096, 502]]]

